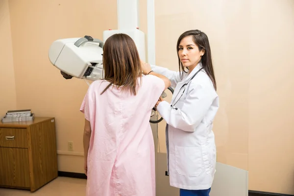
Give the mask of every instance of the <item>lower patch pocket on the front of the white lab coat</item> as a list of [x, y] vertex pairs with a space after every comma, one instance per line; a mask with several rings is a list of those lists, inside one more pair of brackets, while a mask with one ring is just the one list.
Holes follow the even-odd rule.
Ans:
[[175, 146], [175, 169], [180, 175], [199, 176], [202, 173], [201, 147]]

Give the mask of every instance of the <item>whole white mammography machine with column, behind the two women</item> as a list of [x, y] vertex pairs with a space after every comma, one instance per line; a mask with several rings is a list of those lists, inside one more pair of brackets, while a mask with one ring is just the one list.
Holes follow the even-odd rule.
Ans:
[[[49, 61], [65, 79], [73, 77], [87, 80], [103, 78], [103, 43], [115, 33], [125, 33], [135, 42], [140, 58], [155, 64], [154, 0], [147, 0], [147, 52], [145, 33], [138, 28], [139, 0], [118, 0], [118, 30], [103, 31], [103, 40], [84, 36], [64, 38], [54, 41], [49, 48]], [[88, 83], [88, 82], [87, 82]], [[88, 83], [89, 84], [89, 83]], [[173, 92], [172, 88], [169, 88]], [[163, 97], [166, 95], [163, 94]], [[153, 111], [155, 112], [155, 111]], [[155, 116], [155, 115], [154, 115]], [[157, 116], [157, 115], [156, 115]], [[156, 117], [155, 116], [155, 117]], [[157, 126], [161, 119], [150, 119], [154, 142], [157, 144]], [[156, 145], [155, 145], [156, 146]], [[157, 152], [156, 147], [156, 195], [178, 196], [175, 188], [169, 186], [169, 176], [165, 175], [166, 154]], [[217, 172], [211, 190], [211, 196], [248, 196], [247, 171], [217, 163]]]

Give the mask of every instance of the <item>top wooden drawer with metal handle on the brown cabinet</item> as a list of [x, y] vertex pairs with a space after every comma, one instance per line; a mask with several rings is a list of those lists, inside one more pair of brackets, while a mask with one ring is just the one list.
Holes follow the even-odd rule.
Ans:
[[27, 148], [26, 129], [0, 128], [0, 147]]

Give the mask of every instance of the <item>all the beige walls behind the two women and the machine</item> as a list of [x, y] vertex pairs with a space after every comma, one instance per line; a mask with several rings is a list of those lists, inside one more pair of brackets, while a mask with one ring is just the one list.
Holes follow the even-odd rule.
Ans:
[[[116, 4], [0, 0], [0, 116], [31, 109], [55, 117], [59, 171], [83, 172], [79, 107], [88, 85], [64, 79], [49, 62], [49, 46], [60, 38], [102, 39], [103, 30], [117, 29]], [[247, 170], [249, 190], [294, 195], [294, 0], [155, 0], [157, 65], [178, 70], [176, 41], [192, 28], [207, 33], [212, 47], [218, 161]], [[146, 0], [140, 29], [147, 35]], [[163, 153], [164, 130], [162, 121]]]

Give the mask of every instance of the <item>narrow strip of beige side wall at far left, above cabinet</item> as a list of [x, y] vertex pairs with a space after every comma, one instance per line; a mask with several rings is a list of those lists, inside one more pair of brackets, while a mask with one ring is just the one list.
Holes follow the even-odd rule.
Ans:
[[12, 55], [8, 0], [0, 0], [0, 118], [16, 109], [16, 90]]

